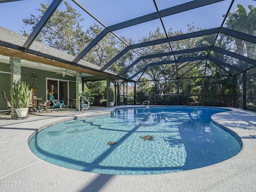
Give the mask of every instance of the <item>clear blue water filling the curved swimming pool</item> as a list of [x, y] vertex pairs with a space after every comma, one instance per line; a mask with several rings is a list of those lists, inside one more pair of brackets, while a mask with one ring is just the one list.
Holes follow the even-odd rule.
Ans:
[[[225, 110], [204, 107], [140, 107], [59, 123], [29, 143], [39, 158], [86, 172], [162, 174], [209, 166], [241, 150], [238, 137], [210, 117]], [[152, 136], [152, 140], [142, 139]], [[142, 138], [141, 138], [142, 137]], [[110, 146], [108, 142], [117, 144]]]

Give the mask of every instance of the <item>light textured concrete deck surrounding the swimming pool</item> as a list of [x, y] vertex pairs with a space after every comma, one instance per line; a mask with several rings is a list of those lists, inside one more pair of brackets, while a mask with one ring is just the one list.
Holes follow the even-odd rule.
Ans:
[[[124, 106], [123, 106], [124, 107]], [[128, 107], [128, 106], [125, 106]], [[114, 108], [93, 108], [84, 116], [108, 114]], [[107, 175], [81, 172], [41, 160], [28, 147], [42, 127], [81, 117], [59, 110], [16, 120], [0, 115], [0, 191], [2, 192], [256, 192], [256, 113], [237, 108], [212, 116], [240, 136], [243, 148], [218, 164], [157, 175]], [[23, 186], [22, 186], [23, 185]]]

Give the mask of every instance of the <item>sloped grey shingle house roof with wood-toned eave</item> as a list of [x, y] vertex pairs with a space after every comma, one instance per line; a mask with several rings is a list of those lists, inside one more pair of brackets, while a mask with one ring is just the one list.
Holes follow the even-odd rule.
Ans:
[[84, 60], [80, 60], [76, 65], [71, 64], [74, 56], [52, 48], [40, 42], [34, 42], [26, 52], [22, 51], [22, 46], [27, 37], [12, 32], [0, 26], [0, 54], [10, 57], [17, 57], [24, 60], [40, 62], [52, 66], [66, 68], [78, 72], [84, 72], [96, 76], [116, 79], [116, 74], [107, 71], [99, 72], [100, 67]]

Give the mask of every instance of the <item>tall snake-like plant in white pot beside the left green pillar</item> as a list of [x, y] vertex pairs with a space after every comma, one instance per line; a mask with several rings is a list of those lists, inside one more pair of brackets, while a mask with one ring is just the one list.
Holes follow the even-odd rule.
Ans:
[[21, 82], [12, 86], [12, 91], [10, 91], [10, 95], [16, 107], [15, 111], [18, 115], [18, 118], [24, 118], [28, 113], [28, 105], [30, 96], [32, 93], [32, 89], [29, 89], [26, 85], [26, 82]]

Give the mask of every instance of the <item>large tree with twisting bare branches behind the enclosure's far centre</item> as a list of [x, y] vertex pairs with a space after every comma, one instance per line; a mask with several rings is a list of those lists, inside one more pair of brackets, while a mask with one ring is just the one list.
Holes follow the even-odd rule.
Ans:
[[[201, 30], [200, 28], [196, 28], [194, 24], [188, 24], [188, 33], [195, 32], [196, 30]], [[168, 30], [168, 36], [177, 36], [181, 35], [183, 32], [181, 30], [173, 32], [172, 29]], [[157, 28], [154, 32], [150, 32], [147, 36], [144, 36], [140, 42], [148, 42], [160, 38], [166, 38], [165, 34], [160, 32], [160, 28]], [[182, 50], [182, 49], [189, 49], [194, 48], [196, 42], [196, 38], [194, 39], [184, 39], [175, 42], [171, 42], [171, 45], [175, 50]], [[164, 52], [171, 52], [172, 49], [168, 43], [165, 44], [157, 44], [154, 46], [147, 46], [140, 48], [141, 55], [149, 55], [149, 54], [156, 54], [156, 53], [164, 53]], [[154, 62], [162, 62], [168, 60], [177, 60], [186, 57], [193, 57], [198, 56], [198, 53], [190, 53], [190, 54], [180, 54], [176, 55], [174, 58], [173, 56], [166, 56], [160, 58], [153, 58], [150, 60], [150, 63]], [[176, 91], [173, 86], [177, 84], [177, 79], [186, 74], [186, 73], [196, 73], [198, 72], [198, 68], [194, 66], [197, 62], [184, 62], [184, 63], [177, 63], [177, 64], [164, 64], [158, 65], [154, 67], [148, 68], [144, 73], [148, 75], [151, 79], [154, 79], [156, 84], [158, 94], [163, 94], [164, 92], [171, 93]]]

